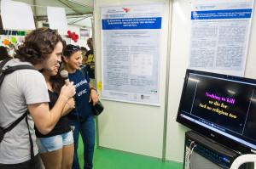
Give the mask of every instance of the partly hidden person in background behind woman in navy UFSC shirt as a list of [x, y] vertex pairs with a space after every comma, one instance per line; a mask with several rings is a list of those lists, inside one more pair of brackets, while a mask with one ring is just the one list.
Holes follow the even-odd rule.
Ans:
[[90, 76], [90, 82], [93, 87], [96, 87], [95, 84], [95, 58], [93, 54], [93, 42], [92, 38], [87, 39], [87, 45], [90, 48], [90, 50], [85, 54], [87, 57], [87, 64], [86, 64], [86, 70], [88, 71], [88, 74]]

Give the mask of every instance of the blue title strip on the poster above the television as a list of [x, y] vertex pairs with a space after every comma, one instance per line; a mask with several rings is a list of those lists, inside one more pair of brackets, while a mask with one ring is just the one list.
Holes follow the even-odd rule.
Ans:
[[218, 19], [241, 19], [251, 18], [252, 8], [231, 10], [207, 10], [192, 11], [191, 20], [218, 20]]

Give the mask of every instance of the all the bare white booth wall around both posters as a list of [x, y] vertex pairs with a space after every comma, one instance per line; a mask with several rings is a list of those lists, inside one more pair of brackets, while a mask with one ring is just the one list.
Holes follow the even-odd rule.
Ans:
[[[208, 2], [207, 0], [203, 0]], [[212, 0], [214, 1], [214, 0]], [[183, 88], [183, 78], [189, 60], [190, 6], [191, 0], [172, 0], [172, 19], [169, 20], [169, 0], [96, 0], [96, 71], [101, 80], [101, 18], [105, 5], [164, 2], [162, 45], [160, 55], [160, 107], [119, 103], [102, 100], [105, 110], [99, 116], [99, 145], [140, 155], [161, 158], [164, 129], [166, 93], [166, 60], [170, 57], [168, 93], [168, 117], [166, 136], [166, 160], [183, 162], [184, 133], [188, 128], [177, 124], [176, 115]], [[254, 4], [254, 8], [256, 5]], [[171, 39], [168, 37], [168, 21], [172, 21]], [[167, 56], [167, 42], [171, 41], [171, 54]], [[256, 78], [256, 16], [253, 23], [247, 54], [245, 76]]]

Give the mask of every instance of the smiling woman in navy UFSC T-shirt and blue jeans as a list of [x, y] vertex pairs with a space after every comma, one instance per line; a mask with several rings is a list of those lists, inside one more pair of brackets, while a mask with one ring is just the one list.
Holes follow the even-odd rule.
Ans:
[[95, 145], [95, 124], [92, 114], [92, 104], [96, 104], [98, 96], [96, 89], [92, 87], [87, 71], [86, 77], [79, 70], [81, 65], [81, 49], [79, 46], [67, 45], [63, 50], [62, 61], [64, 69], [68, 71], [70, 82], [74, 82], [76, 87], [75, 104], [76, 109], [67, 114], [71, 126], [75, 127], [73, 132], [74, 139], [74, 156], [73, 169], [79, 169], [79, 132], [81, 133], [84, 143], [84, 169], [92, 168], [92, 159]]

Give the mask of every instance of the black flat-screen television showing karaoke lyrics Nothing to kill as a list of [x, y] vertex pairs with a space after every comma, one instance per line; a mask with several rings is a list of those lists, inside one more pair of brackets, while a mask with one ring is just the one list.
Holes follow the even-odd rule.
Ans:
[[256, 80], [187, 70], [176, 121], [238, 153], [256, 154]]

